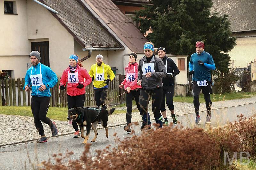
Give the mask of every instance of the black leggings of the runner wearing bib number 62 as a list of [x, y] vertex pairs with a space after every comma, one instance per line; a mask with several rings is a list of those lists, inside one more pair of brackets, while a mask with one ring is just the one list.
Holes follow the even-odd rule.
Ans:
[[48, 117], [46, 117], [49, 108], [49, 103], [50, 97], [31, 97], [31, 110], [34, 117], [34, 123], [37, 131], [41, 136], [45, 135], [41, 121], [45, 124], [48, 124], [50, 128], [53, 126], [52, 121]]

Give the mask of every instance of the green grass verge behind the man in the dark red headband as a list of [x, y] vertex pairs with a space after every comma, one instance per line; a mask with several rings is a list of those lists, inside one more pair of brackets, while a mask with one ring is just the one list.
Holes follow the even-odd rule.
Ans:
[[[256, 92], [231, 92], [231, 93], [224, 93], [224, 94], [211, 94], [211, 100], [212, 100], [212, 102], [225, 101], [225, 100], [248, 98], [248, 97], [252, 97], [255, 95], [256, 95]], [[175, 96], [175, 97], [173, 97], [173, 101], [193, 103], [193, 97]], [[203, 94], [200, 94], [199, 101], [200, 101], [200, 103], [205, 102]]]

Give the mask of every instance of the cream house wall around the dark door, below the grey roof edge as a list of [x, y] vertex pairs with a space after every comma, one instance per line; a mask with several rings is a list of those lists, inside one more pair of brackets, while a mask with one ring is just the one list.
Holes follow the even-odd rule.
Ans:
[[60, 77], [63, 68], [68, 67], [69, 55], [74, 53], [73, 36], [43, 6], [34, 1], [27, 1], [27, 6], [28, 39], [36, 41], [36, 39], [47, 38], [49, 40], [50, 67]]

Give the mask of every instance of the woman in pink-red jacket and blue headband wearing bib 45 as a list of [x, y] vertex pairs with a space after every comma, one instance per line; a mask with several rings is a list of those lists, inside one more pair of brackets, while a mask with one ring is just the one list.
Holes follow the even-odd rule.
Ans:
[[[91, 83], [92, 78], [79, 62], [77, 55], [70, 55], [69, 64], [69, 67], [62, 73], [60, 79], [60, 90], [65, 90], [65, 85], [68, 82], [68, 108], [72, 108], [73, 106], [84, 107], [85, 87]], [[74, 137], [79, 137], [80, 133], [76, 121], [73, 121], [72, 125], [75, 129]]]

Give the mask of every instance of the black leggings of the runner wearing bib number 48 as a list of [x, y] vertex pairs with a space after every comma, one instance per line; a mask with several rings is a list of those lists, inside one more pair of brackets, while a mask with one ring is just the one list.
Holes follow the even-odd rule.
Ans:
[[[156, 123], [160, 124], [159, 127], [163, 125], [163, 117], [160, 113], [161, 100], [163, 98], [163, 87], [156, 88], [153, 90], [140, 90], [140, 114], [142, 115], [142, 120], [146, 125], [150, 125], [151, 122], [148, 121], [148, 103], [152, 98], [152, 111], [156, 120]], [[149, 118], [150, 119], [150, 118]]]

